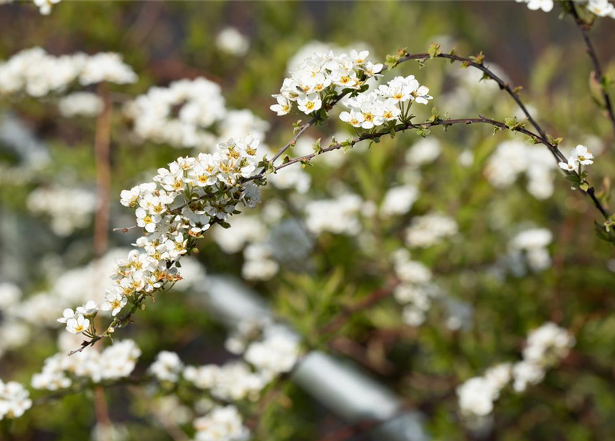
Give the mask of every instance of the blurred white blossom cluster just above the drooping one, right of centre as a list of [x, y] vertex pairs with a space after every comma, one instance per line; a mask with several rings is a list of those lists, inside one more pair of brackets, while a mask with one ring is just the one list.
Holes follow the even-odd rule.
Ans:
[[415, 216], [406, 229], [406, 245], [410, 248], [426, 248], [442, 240], [455, 236], [459, 227], [455, 219], [444, 214], [430, 213], [424, 216]]

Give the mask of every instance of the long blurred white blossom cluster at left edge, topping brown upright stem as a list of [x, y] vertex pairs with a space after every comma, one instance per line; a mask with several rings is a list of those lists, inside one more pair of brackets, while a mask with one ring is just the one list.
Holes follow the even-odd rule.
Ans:
[[25, 93], [34, 97], [63, 92], [73, 81], [92, 85], [107, 81], [126, 84], [137, 76], [113, 52], [87, 55], [78, 52], [55, 57], [43, 48], [22, 50], [0, 64], [0, 94]]

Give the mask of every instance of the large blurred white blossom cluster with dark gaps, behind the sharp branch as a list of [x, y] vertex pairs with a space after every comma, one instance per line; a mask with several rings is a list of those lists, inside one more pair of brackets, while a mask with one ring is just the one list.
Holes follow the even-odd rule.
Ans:
[[140, 139], [201, 151], [229, 138], [262, 141], [269, 129], [249, 110], [227, 110], [220, 85], [202, 77], [150, 88], [127, 103], [125, 113]]

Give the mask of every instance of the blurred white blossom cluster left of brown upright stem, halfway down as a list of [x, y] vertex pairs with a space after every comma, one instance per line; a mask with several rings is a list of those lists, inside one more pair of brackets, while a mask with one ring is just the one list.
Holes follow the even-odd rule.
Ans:
[[26, 201], [33, 214], [50, 217], [51, 229], [58, 236], [70, 236], [76, 229], [92, 222], [96, 210], [96, 194], [80, 188], [38, 187]]

